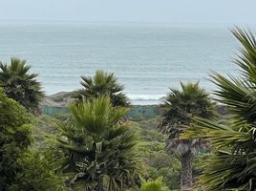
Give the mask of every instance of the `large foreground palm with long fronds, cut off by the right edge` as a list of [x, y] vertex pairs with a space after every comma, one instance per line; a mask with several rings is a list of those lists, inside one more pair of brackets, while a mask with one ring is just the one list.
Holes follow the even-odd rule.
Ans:
[[203, 162], [200, 184], [205, 190], [256, 189], [256, 39], [239, 28], [232, 33], [242, 44], [234, 62], [241, 76], [212, 74], [218, 100], [227, 106], [227, 124], [197, 119], [183, 138], [206, 138], [213, 154]]

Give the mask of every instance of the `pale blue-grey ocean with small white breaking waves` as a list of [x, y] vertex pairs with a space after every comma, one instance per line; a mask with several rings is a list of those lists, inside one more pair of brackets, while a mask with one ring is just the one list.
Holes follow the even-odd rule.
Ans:
[[207, 91], [212, 71], [237, 74], [228, 25], [0, 22], [0, 60], [27, 60], [47, 95], [81, 88], [80, 76], [113, 72], [134, 104], [156, 104], [180, 82]]

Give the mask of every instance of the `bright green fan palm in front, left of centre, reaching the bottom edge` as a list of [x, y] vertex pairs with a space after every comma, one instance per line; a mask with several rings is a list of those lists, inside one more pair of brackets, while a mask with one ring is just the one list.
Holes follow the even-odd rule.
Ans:
[[67, 152], [65, 172], [82, 190], [119, 191], [139, 172], [138, 138], [121, 118], [128, 110], [113, 107], [108, 96], [71, 106], [72, 118], [60, 124], [60, 147]]

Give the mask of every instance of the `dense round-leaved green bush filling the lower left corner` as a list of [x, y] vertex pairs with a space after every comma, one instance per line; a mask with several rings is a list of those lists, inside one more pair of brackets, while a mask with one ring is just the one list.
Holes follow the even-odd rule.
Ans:
[[64, 190], [53, 158], [29, 150], [31, 117], [2, 89], [0, 114], [0, 190]]

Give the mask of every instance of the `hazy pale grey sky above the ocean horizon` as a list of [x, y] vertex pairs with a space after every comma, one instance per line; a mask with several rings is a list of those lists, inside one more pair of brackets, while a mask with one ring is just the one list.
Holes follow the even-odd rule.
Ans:
[[0, 0], [0, 20], [256, 24], [256, 0]]

